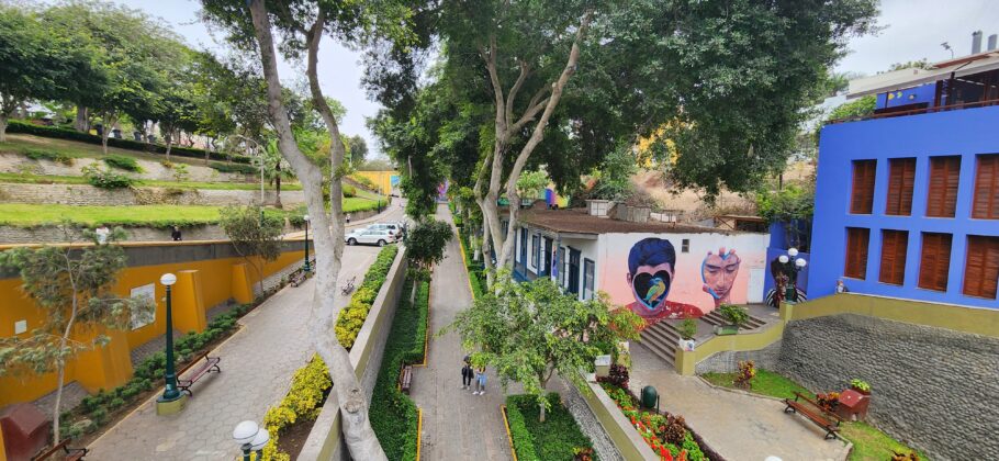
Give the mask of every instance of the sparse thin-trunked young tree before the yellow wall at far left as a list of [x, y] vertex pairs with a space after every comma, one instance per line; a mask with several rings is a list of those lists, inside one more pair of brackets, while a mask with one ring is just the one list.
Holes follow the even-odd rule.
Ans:
[[67, 362], [111, 340], [100, 330], [88, 340], [79, 340], [77, 335], [94, 327], [124, 329], [134, 319], [148, 322], [155, 307], [150, 299], [117, 299], [111, 293], [119, 272], [127, 266], [125, 250], [116, 245], [125, 237], [124, 231], [115, 228], [104, 244], [86, 231], [83, 235], [93, 243], [88, 246], [70, 241], [68, 223], [64, 232], [67, 245], [0, 252], [0, 267], [18, 271], [21, 289], [45, 313], [42, 324], [27, 337], [0, 339], [0, 375], [21, 370], [57, 373], [52, 411], [54, 443], [59, 442]]

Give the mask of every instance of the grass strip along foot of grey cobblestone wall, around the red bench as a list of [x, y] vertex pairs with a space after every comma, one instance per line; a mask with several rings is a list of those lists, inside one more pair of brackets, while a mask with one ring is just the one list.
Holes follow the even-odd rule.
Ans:
[[[711, 384], [736, 389], [733, 384], [736, 373], [705, 373], [701, 376]], [[798, 391], [815, 398], [815, 394], [805, 389], [805, 386], [784, 375], [763, 369], [756, 369], [756, 378], [753, 379], [750, 391], [781, 398], [794, 397], [795, 391]], [[853, 442], [853, 451], [850, 452], [850, 458], [848, 458], [850, 461], [888, 460], [891, 459], [894, 451], [901, 453], [913, 451], [905, 443], [895, 440], [891, 436], [866, 423], [846, 421], [841, 426], [840, 435]], [[929, 459], [922, 451], [918, 451], [918, 454], [920, 460]]]

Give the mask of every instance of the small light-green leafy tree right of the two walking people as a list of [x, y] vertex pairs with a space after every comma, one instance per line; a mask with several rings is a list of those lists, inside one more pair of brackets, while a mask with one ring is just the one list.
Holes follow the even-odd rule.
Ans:
[[548, 382], [555, 372], [580, 392], [588, 392], [580, 370], [606, 352], [602, 346], [638, 339], [641, 318], [610, 305], [606, 294], [580, 301], [547, 278], [518, 283], [507, 269], [494, 280], [438, 335], [457, 331], [467, 349], [476, 350], [473, 362], [495, 367], [504, 386], [520, 383], [537, 398], [541, 421], [549, 406]]

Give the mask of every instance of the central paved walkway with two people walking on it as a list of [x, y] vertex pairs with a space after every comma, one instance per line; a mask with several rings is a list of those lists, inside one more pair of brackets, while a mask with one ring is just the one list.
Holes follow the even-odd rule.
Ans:
[[[438, 205], [437, 218], [451, 222], [447, 205]], [[487, 370], [485, 395], [476, 396], [461, 390], [461, 358], [465, 352], [458, 335], [433, 336], [471, 304], [468, 273], [456, 237], [448, 243], [446, 259], [434, 271], [429, 356], [427, 367], [416, 368], [413, 378], [412, 396], [423, 408], [423, 459], [513, 459], [500, 413], [505, 394], [495, 372]]]

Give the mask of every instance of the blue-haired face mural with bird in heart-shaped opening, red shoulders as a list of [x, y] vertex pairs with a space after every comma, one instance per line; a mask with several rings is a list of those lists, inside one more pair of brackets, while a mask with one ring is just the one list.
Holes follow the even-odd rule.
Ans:
[[701, 311], [689, 304], [667, 301], [675, 273], [676, 250], [670, 240], [646, 238], [628, 254], [628, 284], [635, 302], [628, 308], [647, 322], [660, 318], [699, 317]]

